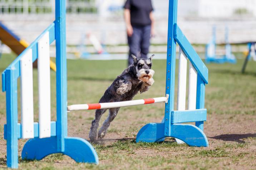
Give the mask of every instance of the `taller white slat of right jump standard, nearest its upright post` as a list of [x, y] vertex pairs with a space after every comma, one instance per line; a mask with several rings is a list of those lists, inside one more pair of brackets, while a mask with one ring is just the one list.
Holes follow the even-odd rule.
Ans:
[[187, 83], [187, 57], [179, 47], [179, 77], [177, 110], [185, 110], [186, 107], [186, 83]]

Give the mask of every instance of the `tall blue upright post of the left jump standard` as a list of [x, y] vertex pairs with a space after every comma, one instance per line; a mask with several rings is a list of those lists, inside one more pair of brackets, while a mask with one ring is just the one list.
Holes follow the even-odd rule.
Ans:
[[66, 1], [55, 1], [57, 150], [64, 152], [67, 136]]

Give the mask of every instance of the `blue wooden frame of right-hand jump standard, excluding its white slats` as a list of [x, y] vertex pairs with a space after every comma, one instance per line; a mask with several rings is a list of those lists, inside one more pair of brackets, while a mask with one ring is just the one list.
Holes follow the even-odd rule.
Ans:
[[[163, 141], [170, 136], [180, 139], [190, 146], [208, 146], [208, 140], [203, 133], [203, 122], [206, 121], [205, 84], [208, 84], [208, 69], [188, 42], [186, 36], [177, 25], [177, 2], [169, 0], [168, 40], [166, 62], [166, 94], [169, 95], [165, 104], [162, 123], [149, 123], [139, 130], [136, 142]], [[196, 110], [174, 110], [174, 85], [176, 42], [197, 71]], [[196, 122], [195, 125], [179, 124]]]

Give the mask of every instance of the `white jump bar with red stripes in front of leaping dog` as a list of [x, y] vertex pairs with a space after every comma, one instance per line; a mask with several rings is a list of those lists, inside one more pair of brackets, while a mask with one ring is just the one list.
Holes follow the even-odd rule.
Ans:
[[109, 102], [109, 103], [94, 103], [94, 104], [74, 104], [68, 106], [68, 111], [72, 110], [91, 110], [91, 109], [109, 109], [109, 108], [118, 108], [131, 105], [140, 105], [140, 104], [151, 104], [159, 102], [167, 102], [167, 97], [156, 97], [149, 99], [140, 99], [134, 101], [124, 101], [124, 102]]

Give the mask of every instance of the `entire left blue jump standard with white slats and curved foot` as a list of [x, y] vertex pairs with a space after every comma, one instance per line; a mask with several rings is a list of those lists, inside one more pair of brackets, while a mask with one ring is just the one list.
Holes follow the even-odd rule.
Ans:
[[[2, 73], [6, 92], [7, 167], [18, 168], [18, 139], [29, 139], [21, 158], [41, 160], [63, 153], [77, 162], [98, 164], [98, 155], [86, 140], [67, 135], [66, 1], [55, 1], [55, 21]], [[49, 46], [56, 40], [56, 122], [50, 113]], [[33, 68], [38, 59], [39, 123], [34, 122]], [[21, 123], [18, 123], [18, 78], [21, 91]]]

